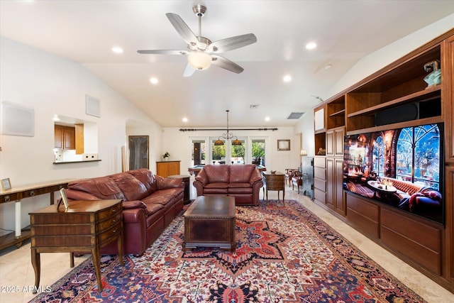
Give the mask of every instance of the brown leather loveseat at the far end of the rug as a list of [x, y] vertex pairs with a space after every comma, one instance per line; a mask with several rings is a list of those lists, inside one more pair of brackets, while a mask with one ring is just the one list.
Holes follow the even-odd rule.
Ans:
[[252, 164], [205, 165], [193, 184], [197, 196], [233, 196], [236, 205], [258, 205], [263, 186], [262, 175]]

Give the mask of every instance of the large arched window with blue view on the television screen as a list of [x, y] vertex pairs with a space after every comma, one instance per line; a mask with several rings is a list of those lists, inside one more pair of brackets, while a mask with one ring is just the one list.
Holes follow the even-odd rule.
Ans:
[[436, 124], [402, 128], [397, 141], [397, 179], [438, 189], [440, 130]]

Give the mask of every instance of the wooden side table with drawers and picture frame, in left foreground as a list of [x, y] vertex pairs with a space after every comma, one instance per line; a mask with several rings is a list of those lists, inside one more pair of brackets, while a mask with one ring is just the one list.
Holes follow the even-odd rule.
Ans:
[[74, 253], [91, 251], [96, 282], [102, 291], [100, 248], [113, 241], [123, 262], [123, 212], [121, 200], [70, 201], [70, 208], [50, 205], [30, 213], [31, 263], [35, 270], [35, 290], [40, 284], [40, 253]]

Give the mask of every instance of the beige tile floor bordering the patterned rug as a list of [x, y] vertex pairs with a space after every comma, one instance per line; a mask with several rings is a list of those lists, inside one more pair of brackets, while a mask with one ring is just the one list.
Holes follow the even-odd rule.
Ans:
[[[191, 197], [194, 198], [194, 187]], [[277, 192], [269, 192], [270, 199], [277, 198]], [[262, 193], [260, 194], [262, 197]], [[280, 194], [282, 199], [282, 192]], [[295, 199], [301, 202], [323, 221], [336, 229], [355, 246], [360, 248], [370, 258], [379, 263], [385, 270], [397, 277], [411, 290], [414, 290], [429, 303], [454, 302], [454, 294], [437, 285], [431, 279], [421, 274], [411, 266], [402, 262], [399, 258], [387, 252], [373, 241], [370, 241], [361, 233], [355, 231], [350, 226], [344, 224], [328, 211], [317, 206], [307, 197], [297, 194], [292, 188], [287, 187], [285, 191], [286, 199]], [[75, 265], [82, 263], [85, 258], [75, 258]], [[71, 270], [70, 258], [68, 253], [42, 253], [41, 254], [41, 275], [40, 285], [42, 288], [52, 285], [63, 275]], [[0, 251], [0, 302], [28, 302], [35, 295], [28, 291], [28, 287], [33, 287], [35, 274], [31, 265], [30, 242], [21, 248], [7, 248]]]

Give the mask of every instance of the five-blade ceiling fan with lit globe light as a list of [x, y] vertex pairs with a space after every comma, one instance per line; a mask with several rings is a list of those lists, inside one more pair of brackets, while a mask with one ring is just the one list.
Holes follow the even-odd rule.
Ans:
[[154, 55], [188, 55], [188, 64], [183, 73], [184, 77], [192, 76], [195, 70], [206, 70], [211, 64], [231, 72], [236, 72], [237, 74], [243, 72], [243, 67], [240, 67], [240, 65], [235, 62], [228, 60], [226, 57], [221, 57], [218, 54], [256, 43], [257, 37], [255, 37], [253, 33], [248, 33], [211, 42], [211, 40], [201, 35], [201, 17], [204, 16], [204, 13], [206, 12], [206, 6], [196, 4], [192, 7], [192, 11], [199, 17], [198, 36], [194, 35], [189, 26], [187, 26], [183, 19], [176, 13], [165, 14], [170, 23], [172, 23], [172, 26], [187, 43], [187, 50], [138, 50], [137, 53]]

